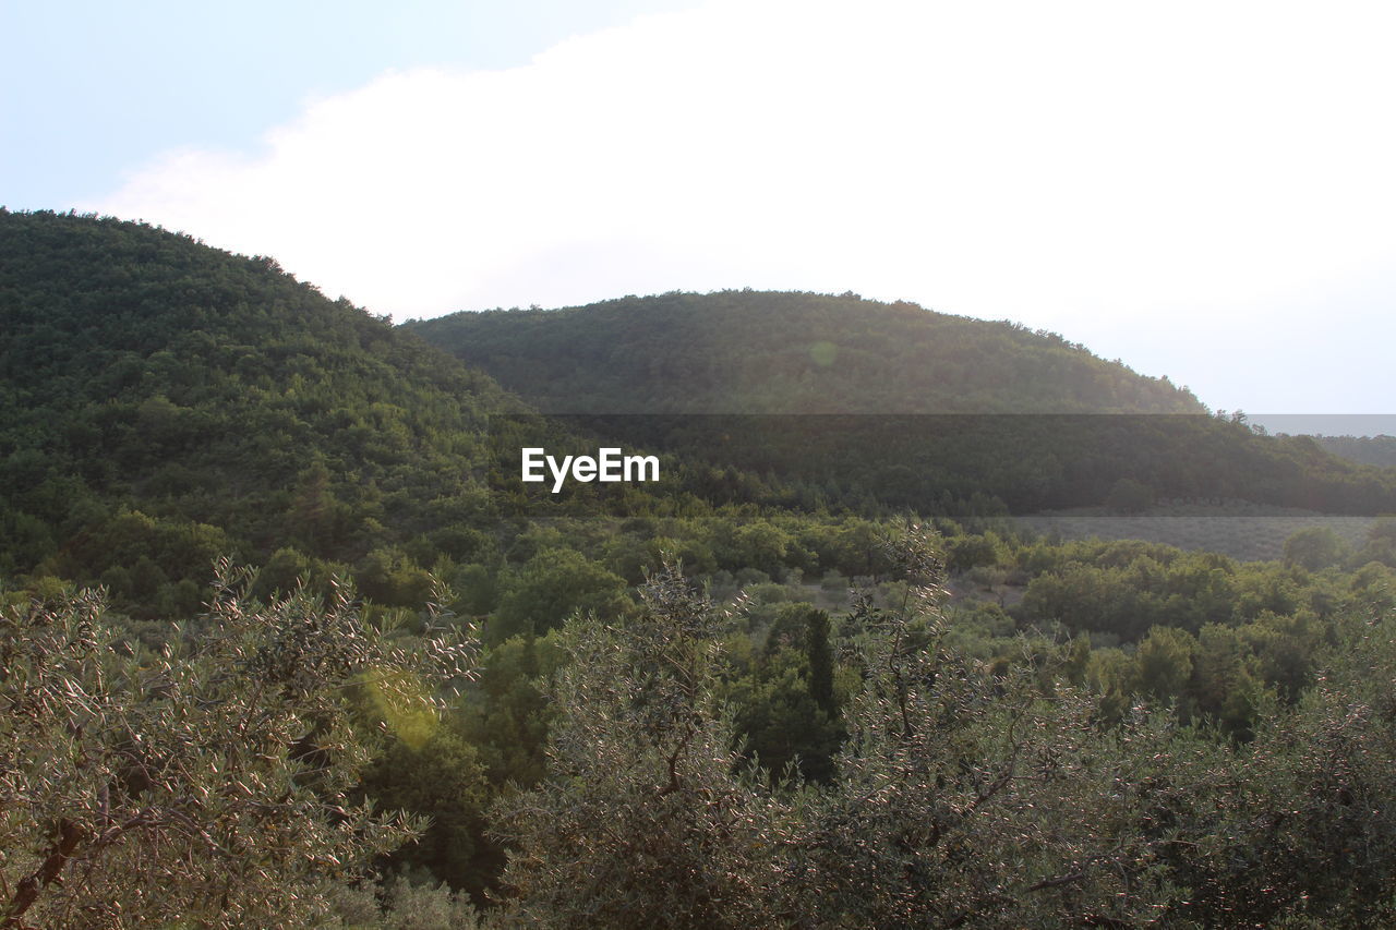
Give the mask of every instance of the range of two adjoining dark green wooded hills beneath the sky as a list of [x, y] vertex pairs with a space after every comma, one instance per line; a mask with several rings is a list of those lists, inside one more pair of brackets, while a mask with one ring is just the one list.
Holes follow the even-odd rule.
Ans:
[[[0, 581], [101, 582], [135, 617], [197, 613], [216, 556], [262, 566], [264, 592], [339, 573], [405, 607], [427, 568], [454, 573], [483, 614], [570, 539], [627, 580], [656, 533], [736, 571], [751, 514], [1071, 507], [1125, 478], [1143, 486], [1127, 501], [1396, 510], [1390, 469], [1216, 420], [1057, 337], [912, 304], [666, 295], [394, 328], [265, 257], [0, 211]], [[522, 447], [599, 444], [660, 451], [663, 480], [519, 480]], [[618, 582], [597, 564], [575, 568]]]

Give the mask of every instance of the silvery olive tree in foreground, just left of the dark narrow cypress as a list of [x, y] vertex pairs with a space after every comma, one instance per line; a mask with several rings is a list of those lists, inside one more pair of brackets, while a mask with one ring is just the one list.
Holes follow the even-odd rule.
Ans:
[[546, 927], [779, 926], [780, 804], [716, 707], [711, 605], [677, 570], [621, 626], [574, 619], [549, 776], [497, 809], [507, 920]]

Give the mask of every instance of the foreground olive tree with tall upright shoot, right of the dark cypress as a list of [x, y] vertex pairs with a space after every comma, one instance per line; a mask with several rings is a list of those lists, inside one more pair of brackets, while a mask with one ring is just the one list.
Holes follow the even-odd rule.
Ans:
[[[1164, 896], [1142, 813], [1185, 796], [1154, 778], [1160, 718], [1094, 736], [1094, 702], [1027, 644], [986, 666], [946, 648], [944, 567], [899, 546], [906, 596], [863, 599], [864, 686], [829, 790], [807, 799], [782, 894], [796, 926], [1136, 926]], [[1046, 663], [1046, 665], [1044, 665]], [[1122, 792], [1121, 785], [1138, 785]]]

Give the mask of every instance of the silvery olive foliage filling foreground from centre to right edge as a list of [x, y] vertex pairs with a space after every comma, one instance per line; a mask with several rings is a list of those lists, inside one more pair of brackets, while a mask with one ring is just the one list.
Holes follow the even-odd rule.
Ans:
[[[505, 800], [500, 917], [526, 926], [1381, 926], [1393, 916], [1392, 617], [1344, 623], [1322, 684], [1252, 693], [1254, 739], [1166, 707], [1103, 719], [1082, 641], [949, 648], [938, 559], [849, 617], [863, 667], [826, 785], [725, 751], [720, 624], [673, 573], [630, 627], [572, 621], [554, 767]], [[667, 605], [667, 606], [666, 606]], [[1159, 628], [1128, 688], [1237, 673], [1238, 641]], [[1128, 677], [1128, 676], [1125, 676]]]

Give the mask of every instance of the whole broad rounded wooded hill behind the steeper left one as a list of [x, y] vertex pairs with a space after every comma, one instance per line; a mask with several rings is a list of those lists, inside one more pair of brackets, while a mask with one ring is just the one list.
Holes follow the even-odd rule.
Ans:
[[1209, 416], [1167, 378], [1061, 337], [905, 302], [667, 293], [405, 328], [614, 441], [771, 475], [828, 503], [1396, 507], [1396, 472]]

